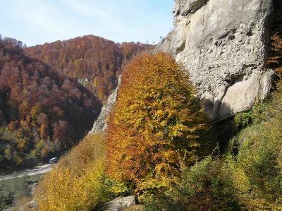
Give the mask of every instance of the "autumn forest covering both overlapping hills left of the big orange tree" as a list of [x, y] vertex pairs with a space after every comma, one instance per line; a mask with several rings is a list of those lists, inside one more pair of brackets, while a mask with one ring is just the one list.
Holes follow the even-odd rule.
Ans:
[[1, 169], [71, 149], [92, 128], [125, 63], [149, 48], [90, 35], [30, 48], [1, 40]]

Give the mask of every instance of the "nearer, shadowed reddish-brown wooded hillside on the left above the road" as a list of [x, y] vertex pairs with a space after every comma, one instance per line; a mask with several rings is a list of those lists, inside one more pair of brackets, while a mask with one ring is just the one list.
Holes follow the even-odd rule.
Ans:
[[0, 71], [1, 169], [69, 149], [102, 107], [78, 82], [12, 42], [0, 41]]

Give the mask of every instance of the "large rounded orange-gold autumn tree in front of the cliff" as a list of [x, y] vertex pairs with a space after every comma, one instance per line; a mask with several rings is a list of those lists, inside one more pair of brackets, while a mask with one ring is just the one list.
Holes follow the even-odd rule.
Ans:
[[165, 53], [141, 54], [123, 71], [109, 116], [107, 171], [136, 191], [168, 187], [197, 159], [206, 128], [188, 73]]

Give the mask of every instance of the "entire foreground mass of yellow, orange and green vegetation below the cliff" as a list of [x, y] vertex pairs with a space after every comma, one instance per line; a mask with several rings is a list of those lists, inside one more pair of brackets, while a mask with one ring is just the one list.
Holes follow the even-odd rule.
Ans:
[[128, 194], [140, 210], [281, 210], [282, 83], [235, 116], [226, 152], [207, 135], [193, 94], [167, 54], [133, 59], [108, 131], [87, 136], [45, 176], [39, 210], [95, 210]]

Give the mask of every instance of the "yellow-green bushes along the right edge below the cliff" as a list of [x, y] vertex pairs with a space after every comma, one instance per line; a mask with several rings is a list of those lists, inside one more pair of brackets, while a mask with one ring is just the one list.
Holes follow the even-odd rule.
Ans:
[[235, 139], [238, 155], [228, 159], [236, 198], [249, 209], [282, 209], [281, 88], [280, 82], [271, 100], [255, 107], [252, 125]]

